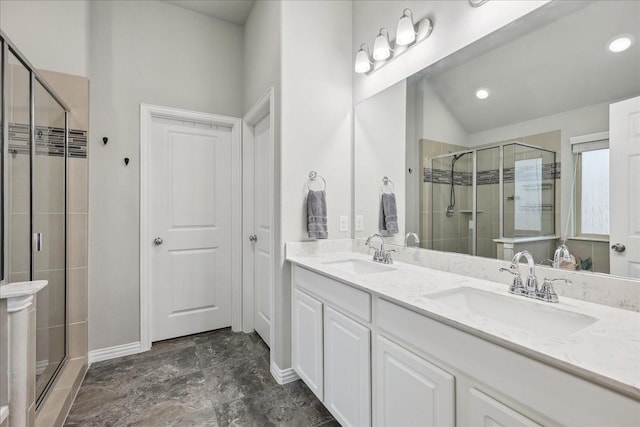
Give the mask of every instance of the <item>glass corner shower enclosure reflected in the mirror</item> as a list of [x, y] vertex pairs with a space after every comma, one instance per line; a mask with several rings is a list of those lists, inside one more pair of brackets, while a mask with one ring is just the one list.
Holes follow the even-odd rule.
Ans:
[[555, 233], [555, 152], [507, 143], [436, 156], [430, 249], [496, 258], [497, 241]]

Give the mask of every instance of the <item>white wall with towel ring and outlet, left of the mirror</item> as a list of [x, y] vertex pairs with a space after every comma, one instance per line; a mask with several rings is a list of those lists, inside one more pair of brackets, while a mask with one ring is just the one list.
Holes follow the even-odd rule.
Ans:
[[[282, 4], [281, 236], [308, 240], [304, 186], [309, 171], [327, 181], [329, 238], [351, 218], [351, 2]], [[280, 245], [281, 259], [284, 244]], [[291, 366], [290, 266], [275, 284], [275, 361]], [[273, 349], [273, 348], [272, 348]]]

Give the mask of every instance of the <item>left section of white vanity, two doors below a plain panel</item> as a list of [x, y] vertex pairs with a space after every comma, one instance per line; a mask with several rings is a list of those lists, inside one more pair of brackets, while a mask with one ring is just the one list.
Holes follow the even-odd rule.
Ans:
[[342, 426], [371, 425], [371, 295], [293, 268], [293, 368]]

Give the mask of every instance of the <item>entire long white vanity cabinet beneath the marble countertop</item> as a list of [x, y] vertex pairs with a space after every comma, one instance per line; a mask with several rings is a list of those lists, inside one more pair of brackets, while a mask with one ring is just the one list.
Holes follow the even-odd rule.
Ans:
[[341, 425], [640, 426], [638, 399], [589, 373], [570, 373], [362, 283], [293, 267], [294, 369]]

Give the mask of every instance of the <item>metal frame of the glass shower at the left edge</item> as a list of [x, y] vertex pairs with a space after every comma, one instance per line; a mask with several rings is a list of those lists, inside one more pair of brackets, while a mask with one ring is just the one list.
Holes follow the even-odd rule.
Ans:
[[68, 291], [67, 291], [67, 285], [68, 285], [68, 275], [67, 275], [67, 270], [69, 268], [68, 266], [68, 259], [67, 259], [67, 230], [68, 230], [68, 217], [69, 217], [69, 212], [68, 212], [68, 206], [67, 206], [67, 190], [68, 190], [68, 179], [67, 179], [67, 173], [68, 173], [68, 147], [69, 147], [69, 112], [71, 111], [71, 109], [69, 108], [69, 106], [62, 100], [62, 98], [60, 98], [58, 96], [58, 94], [56, 94], [56, 92], [53, 90], [53, 88], [51, 88], [51, 86], [49, 86], [49, 84], [46, 82], [46, 80], [38, 73], [37, 69], [26, 59], [26, 57], [22, 54], [22, 52], [20, 52], [20, 50], [17, 48], [17, 46], [15, 44], [13, 44], [13, 42], [5, 35], [4, 32], [2, 32], [2, 30], [0, 30], [0, 46], [2, 47], [2, 50], [0, 52], [0, 54], [2, 55], [2, 61], [0, 62], [1, 65], [1, 69], [0, 69], [0, 78], [2, 78], [2, 93], [0, 95], [2, 95], [1, 97], [1, 103], [0, 103], [0, 108], [2, 109], [2, 177], [3, 177], [3, 183], [2, 183], [2, 200], [1, 200], [1, 208], [2, 208], [2, 221], [3, 221], [3, 228], [2, 228], [2, 251], [3, 251], [3, 258], [2, 258], [2, 270], [3, 270], [3, 274], [2, 274], [2, 284], [8, 283], [9, 279], [8, 279], [8, 272], [9, 272], [9, 265], [8, 265], [8, 253], [9, 253], [9, 242], [8, 239], [6, 239], [6, 230], [9, 227], [9, 215], [5, 214], [5, 208], [8, 205], [6, 202], [6, 197], [8, 196], [8, 168], [7, 168], [7, 162], [8, 162], [8, 156], [9, 156], [9, 118], [7, 116], [7, 113], [9, 111], [9, 100], [6, 96], [6, 92], [7, 92], [7, 88], [8, 88], [8, 84], [9, 84], [9, 78], [8, 78], [8, 73], [6, 72], [6, 67], [8, 67], [9, 65], [9, 54], [12, 54], [21, 64], [22, 66], [24, 66], [24, 68], [29, 72], [29, 126], [30, 126], [30, 132], [29, 132], [29, 144], [30, 144], [30, 153], [29, 153], [29, 187], [30, 187], [30, 194], [29, 194], [29, 236], [30, 236], [30, 250], [29, 250], [29, 254], [30, 254], [30, 260], [29, 260], [29, 277], [30, 280], [34, 279], [34, 273], [35, 273], [35, 269], [34, 269], [34, 225], [33, 225], [33, 217], [35, 215], [35, 211], [34, 211], [34, 162], [35, 162], [35, 156], [36, 156], [36, 138], [35, 138], [35, 133], [36, 133], [36, 129], [35, 129], [35, 85], [36, 82], [39, 83], [42, 88], [53, 98], [53, 100], [55, 102], [58, 103], [58, 105], [64, 110], [64, 126], [65, 126], [65, 131], [64, 131], [64, 151], [63, 151], [63, 158], [64, 158], [64, 290], [65, 290], [65, 296], [64, 296], [64, 301], [65, 301], [65, 316], [64, 316], [64, 328], [65, 328], [65, 334], [64, 334], [64, 357], [62, 358], [62, 360], [60, 361], [60, 363], [58, 364], [58, 366], [56, 367], [56, 369], [54, 370], [51, 378], [49, 379], [47, 385], [44, 387], [44, 389], [42, 390], [42, 393], [40, 393], [38, 396], [36, 396], [36, 410], [38, 409], [38, 407], [42, 404], [42, 402], [44, 401], [44, 399], [46, 398], [46, 396], [48, 395], [49, 391], [51, 390], [51, 386], [53, 385], [53, 383], [55, 383], [57, 376], [59, 375], [59, 373], [62, 371], [64, 365], [66, 364], [68, 358], [69, 358], [69, 327], [68, 327]]

